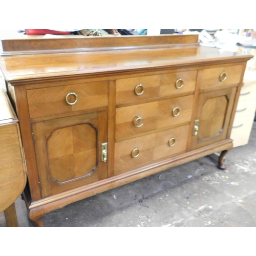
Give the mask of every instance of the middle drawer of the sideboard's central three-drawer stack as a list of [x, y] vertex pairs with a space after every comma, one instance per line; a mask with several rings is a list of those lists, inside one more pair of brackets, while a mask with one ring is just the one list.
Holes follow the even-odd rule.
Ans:
[[116, 139], [189, 122], [194, 95], [159, 100], [116, 110]]

